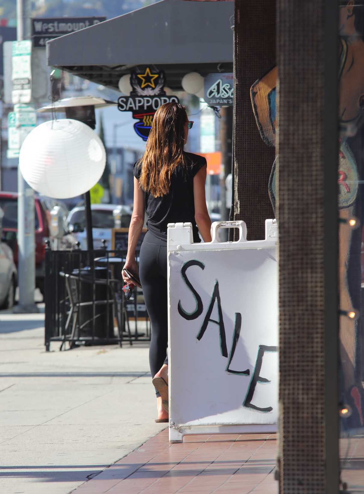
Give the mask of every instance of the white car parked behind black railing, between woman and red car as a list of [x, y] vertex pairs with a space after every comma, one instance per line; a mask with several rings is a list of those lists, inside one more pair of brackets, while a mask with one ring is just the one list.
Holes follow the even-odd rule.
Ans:
[[[82, 250], [87, 249], [86, 219], [84, 209], [84, 206], [76, 206], [67, 216], [69, 231], [75, 238], [75, 242], [80, 242], [80, 248]], [[102, 240], [106, 240], [106, 247], [109, 250], [111, 249], [111, 230], [115, 227], [115, 219], [113, 216], [113, 211], [115, 209], [118, 209], [121, 213], [121, 228], [128, 228], [132, 213], [132, 208], [130, 206], [121, 206], [119, 204], [91, 204], [94, 249], [103, 247]]]

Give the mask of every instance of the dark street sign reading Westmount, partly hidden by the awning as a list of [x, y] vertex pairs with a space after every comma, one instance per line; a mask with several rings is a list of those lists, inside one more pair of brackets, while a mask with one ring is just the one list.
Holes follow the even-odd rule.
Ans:
[[95, 26], [106, 17], [42, 17], [32, 19], [32, 38], [35, 47], [65, 34], [75, 33], [81, 29]]

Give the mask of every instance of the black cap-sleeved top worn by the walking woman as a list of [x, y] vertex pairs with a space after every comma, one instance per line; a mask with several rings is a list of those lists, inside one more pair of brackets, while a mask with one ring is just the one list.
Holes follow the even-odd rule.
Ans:
[[[144, 192], [145, 210], [148, 214], [148, 230], [158, 239], [167, 242], [168, 223], [192, 223], [194, 242], [201, 242], [195, 221], [194, 176], [206, 166], [206, 159], [192, 153], [184, 153], [186, 165], [178, 165], [171, 175], [168, 194], [154, 197]], [[139, 180], [141, 161], [133, 167]]]

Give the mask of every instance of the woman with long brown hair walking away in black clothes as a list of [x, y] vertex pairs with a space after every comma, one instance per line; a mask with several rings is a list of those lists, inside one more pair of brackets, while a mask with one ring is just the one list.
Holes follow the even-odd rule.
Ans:
[[[191, 222], [194, 242], [211, 241], [205, 201], [206, 160], [186, 153], [189, 122], [185, 107], [166, 103], [156, 112], [145, 153], [135, 163], [134, 205], [124, 269], [137, 275], [135, 247], [144, 224], [139, 276], [151, 321], [149, 364], [157, 394], [158, 422], [168, 421], [167, 224]], [[133, 283], [122, 272], [124, 282]]]

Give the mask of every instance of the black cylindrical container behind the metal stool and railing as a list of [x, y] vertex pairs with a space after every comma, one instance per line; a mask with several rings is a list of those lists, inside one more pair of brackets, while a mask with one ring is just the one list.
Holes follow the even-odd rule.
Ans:
[[[114, 337], [114, 318], [113, 318], [113, 297], [111, 289], [107, 284], [93, 283], [95, 280], [107, 280], [108, 272], [104, 267], [84, 267], [72, 271], [72, 283], [70, 288], [73, 291], [73, 298], [78, 300], [78, 337], [89, 338], [92, 342], [92, 321], [94, 319], [95, 338], [113, 338]], [[93, 278], [95, 277], [95, 278]], [[109, 279], [111, 273], [109, 271]], [[95, 296], [93, 300], [93, 290]], [[109, 300], [109, 303], [107, 303]], [[105, 303], [100, 303], [104, 301]], [[95, 304], [93, 302], [96, 302]], [[93, 306], [95, 305], [95, 310]]]

